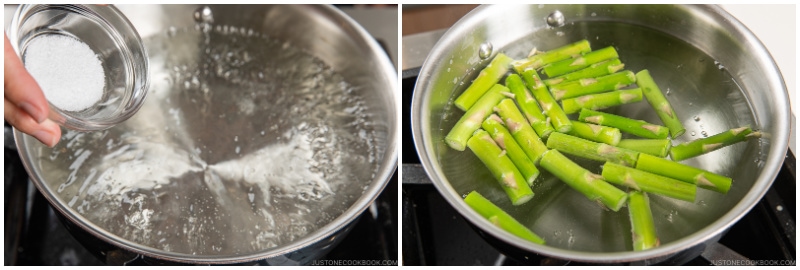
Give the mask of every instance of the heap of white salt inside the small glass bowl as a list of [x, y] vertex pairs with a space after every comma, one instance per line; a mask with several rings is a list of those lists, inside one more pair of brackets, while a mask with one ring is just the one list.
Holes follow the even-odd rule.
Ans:
[[103, 97], [105, 72], [88, 45], [63, 35], [41, 35], [30, 41], [24, 56], [30, 72], [51, 104], [81, 111]]

